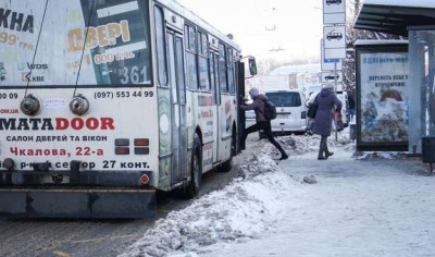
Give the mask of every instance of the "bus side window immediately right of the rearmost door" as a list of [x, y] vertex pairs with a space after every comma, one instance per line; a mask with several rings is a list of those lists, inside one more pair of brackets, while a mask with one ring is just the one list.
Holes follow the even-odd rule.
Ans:
[[191, 89], [198, 89], [198, 65], [197, 65], [197, 40], [195, 28], [185, 25], [185, 44], [186, 44], [186, 77], [187, 87]]

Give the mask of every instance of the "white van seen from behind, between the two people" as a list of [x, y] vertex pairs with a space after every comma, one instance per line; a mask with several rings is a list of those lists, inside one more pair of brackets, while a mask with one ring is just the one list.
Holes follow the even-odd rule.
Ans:
[[274, 135], [303, 134], [307, 131], [307, 100], [298, 89], [265, 90], [276, 106], [276, 119], [271, 121]]

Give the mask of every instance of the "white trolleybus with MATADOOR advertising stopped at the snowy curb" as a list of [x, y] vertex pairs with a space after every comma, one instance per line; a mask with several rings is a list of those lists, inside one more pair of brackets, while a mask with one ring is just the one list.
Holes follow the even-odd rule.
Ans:
[[254, 58], [175, 1], [0, 0], [0, 46], [2, 217], [156, 217], [240, 151]]

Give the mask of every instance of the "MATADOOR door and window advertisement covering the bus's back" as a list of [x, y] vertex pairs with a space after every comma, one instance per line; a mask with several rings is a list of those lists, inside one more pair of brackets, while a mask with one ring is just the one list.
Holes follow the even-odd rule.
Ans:
[[28, 171], [46, 161], [66, 170], [72, 159], [85, 170], [157, 169], [144, 158], [157, 142], [115, 152], [158, 133], [147, 10], [126, 0], [1, 1], [2, 159]]

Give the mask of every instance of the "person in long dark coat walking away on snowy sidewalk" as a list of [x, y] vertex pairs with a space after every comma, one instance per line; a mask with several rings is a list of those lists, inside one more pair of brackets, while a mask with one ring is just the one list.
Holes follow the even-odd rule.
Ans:
[[334, 84], [325, 84], [319, 95], [315, 97], [318, 102], [318, 112], [315, 113], [315, 122], [313, 133], [321, 136], [319, 147], [319, 160], [325, 160], [334, 152], [327, 149], [327, 137], [331, 136], [333, 111], [340, 113], [341, 101], [334, 93]]

